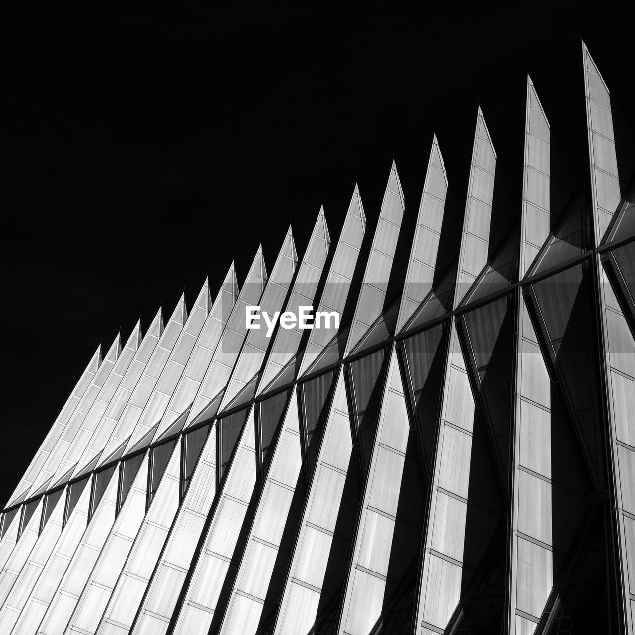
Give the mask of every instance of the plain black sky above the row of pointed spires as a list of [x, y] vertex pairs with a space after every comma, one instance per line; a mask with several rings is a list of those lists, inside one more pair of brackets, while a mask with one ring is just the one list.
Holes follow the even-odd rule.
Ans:
[[433, 130], [462, 207], [478, 104], [519, 213], [527, 72], [584, 180], [580, 37], [635, 123], [627, 3], [55, 4], [2, 10], [5, 501], [100, 340], [322, 202], [336, 239], [356, 180], [373, 222], [393, 156], [416, 215]]

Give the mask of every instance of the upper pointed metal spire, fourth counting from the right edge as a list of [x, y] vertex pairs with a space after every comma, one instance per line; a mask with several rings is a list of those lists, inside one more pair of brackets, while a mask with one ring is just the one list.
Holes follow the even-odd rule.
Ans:
[[432, 287], [438, 283], [450, 260], [455, 257], [455, 245], [448, 244], [448, 237], [441, 235], [444, 224], [448, 224], [448, 220], [451, 223], [455, 213], [448, 192], [448, 174], [436, 135], [433, 135], [406, 284], [401, 297], [398, 332], [408, 323]]

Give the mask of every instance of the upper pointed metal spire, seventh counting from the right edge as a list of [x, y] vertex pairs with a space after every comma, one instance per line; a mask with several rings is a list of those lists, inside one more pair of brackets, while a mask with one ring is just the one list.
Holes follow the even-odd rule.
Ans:
[[[314, 304], [329, 247], [330, 236], [326, 218], [324, 218], [324, 208], [320, 208], [304, 258], [293, 282], [289, 301], [284, 307], [285, 311], [293, 312], [298, 317], [298, 321], [300, 319], [300, 307], [313, 306]], [[260, 380], [258, 394], [271, 383], [274, 377], [298, 352], [303, 333], [304, 331], [299, 324], [290, 329], [280, 328], [277, 331], [262, 380]], [[299, 364], [300, 359], [297, 361]]]

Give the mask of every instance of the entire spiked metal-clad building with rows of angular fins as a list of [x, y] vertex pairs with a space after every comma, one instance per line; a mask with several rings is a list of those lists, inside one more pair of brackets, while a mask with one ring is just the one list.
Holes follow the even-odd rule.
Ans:
[[520, 205], [479, 109], [464, 210], [434, 138], [416, 215], [393, 164], [373, 232], [356, 189], [95, 352], [4, 509], [0, 632], [635, 634], [635, 194], [583, 67], [563, 203], [528, 78]]

